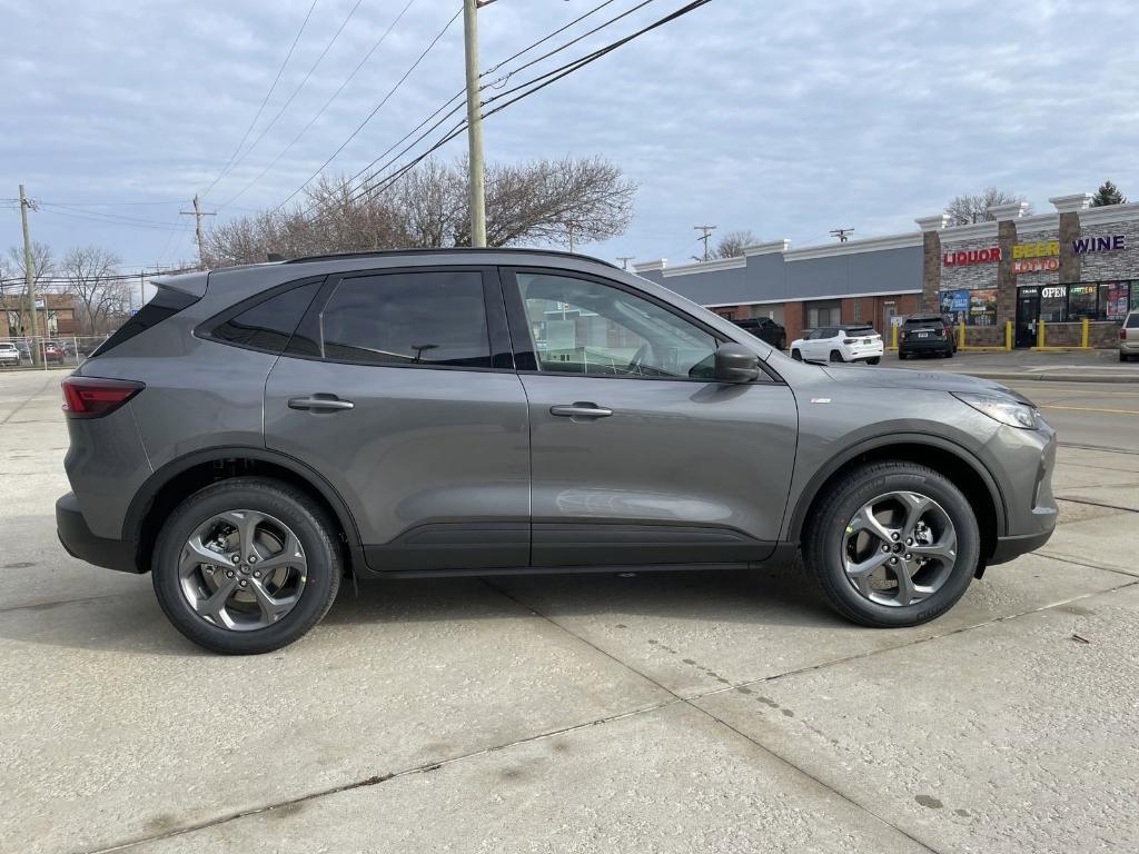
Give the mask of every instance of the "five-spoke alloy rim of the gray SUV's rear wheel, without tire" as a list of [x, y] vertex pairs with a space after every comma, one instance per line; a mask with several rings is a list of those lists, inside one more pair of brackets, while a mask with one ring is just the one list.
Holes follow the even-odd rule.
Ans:
[[205, 622], [264, 629], [301, 600], [309, 565], [297, 535], [256, 510], [229, 510], [198, 525], [182, 547], [179, 586]]

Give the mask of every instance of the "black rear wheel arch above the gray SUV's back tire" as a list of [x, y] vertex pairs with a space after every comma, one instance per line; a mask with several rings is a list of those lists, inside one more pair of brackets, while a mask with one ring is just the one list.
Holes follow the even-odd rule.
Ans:
[[360, 531], [352, 511], [337, 491], [318, 471], [289, 457], [264, 447], [211, 447], [179, 457], [155, 471], [136, 493], [123, 522], [123, 539], [136, 542], [136, 568], [150, 568], [163, 520], [187, 495], [203, 486], [232, 477], [260, 475], [284, 481], [311, 495], [336, 522], [350, 566], [363, 566]]

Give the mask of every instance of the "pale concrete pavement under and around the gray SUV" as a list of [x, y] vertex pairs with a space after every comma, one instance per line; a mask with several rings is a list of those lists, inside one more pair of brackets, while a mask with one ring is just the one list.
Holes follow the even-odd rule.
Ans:
[[795, 572], [405, 581], [226, 658], [58, 545], [63, 376], [0, 376], [6, 852], [1139, 849], [1139, 385], [1014, 381], [1060, 527], [917, 629]]

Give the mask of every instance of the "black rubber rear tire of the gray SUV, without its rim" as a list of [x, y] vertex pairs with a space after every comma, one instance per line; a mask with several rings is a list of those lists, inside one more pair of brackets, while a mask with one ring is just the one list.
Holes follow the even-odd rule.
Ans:
[[[233, 631], [198, 616], [182, 596], [178, 565], [192, 532], [228, 510], [257, 510], [295, 532], [308, 563], [296, 605], [263, 629]], [[305, 493], [279, 481], [236, 477], [194, 493], [170, 515], [154, 549], [151, 575], [158, 603], [174, 627], [195, 643], [226, 655], [270, 652], [298, 640], [328, 613], [339, 590], [344, 560], [336, 526]]]

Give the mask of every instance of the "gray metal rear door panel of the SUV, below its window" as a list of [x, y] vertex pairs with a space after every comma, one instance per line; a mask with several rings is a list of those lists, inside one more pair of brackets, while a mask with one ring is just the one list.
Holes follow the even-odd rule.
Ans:
[[[316, 395], [353, 407], [288, 405]], [[374, 569], [528, 563], [528, 428], [515, 373], [282, 356], [265, 384], [265, 444], [337, 488]]]

